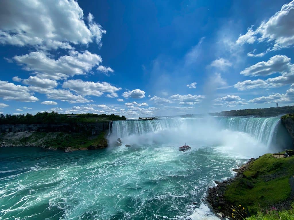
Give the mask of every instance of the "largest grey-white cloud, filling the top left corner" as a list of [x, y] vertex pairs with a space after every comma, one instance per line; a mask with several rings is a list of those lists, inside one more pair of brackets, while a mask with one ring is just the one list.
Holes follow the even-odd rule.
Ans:
[[88, 26], [83, 18], [83, 10], [74, 0], [4, 0], [0, 43], [44, 50], [72, 49], [71, 44], [87, 45], [93, 40], [101, 45], [106, 31], [93, 21], [93, 15], [88, 15]]

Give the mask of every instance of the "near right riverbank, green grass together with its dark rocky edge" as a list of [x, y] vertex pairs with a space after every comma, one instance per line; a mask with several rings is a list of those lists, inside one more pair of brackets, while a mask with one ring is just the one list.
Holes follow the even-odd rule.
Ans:
[[[294, 157], [265, 154], [234, 170], [236, 176], [208, 189], [206, 200], [216, 213], [232, 219], [238, 207], [244, 217], [258, 211], [290, 209], [294, 198]], [[244, 207], [244, 209], [243, 209]], [[235, 211], [234, 211], [235, 210]], [[236, 218], [234, 218], [236, 219]]]

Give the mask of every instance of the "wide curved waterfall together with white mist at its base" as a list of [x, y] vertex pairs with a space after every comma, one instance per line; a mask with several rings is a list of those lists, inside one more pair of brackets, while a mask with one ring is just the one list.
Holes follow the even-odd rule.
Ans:
[[203, 117], [113, 121], [110, 143], [215, 146], [253, 157], [287, 148], [291, 138], [278, 117]]

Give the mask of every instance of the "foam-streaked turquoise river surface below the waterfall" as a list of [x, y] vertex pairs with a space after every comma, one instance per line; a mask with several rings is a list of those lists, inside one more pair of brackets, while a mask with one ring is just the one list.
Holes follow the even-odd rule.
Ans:
[[186, 219], [245, 160], [213, 147], [0, 148], [0, 219]]

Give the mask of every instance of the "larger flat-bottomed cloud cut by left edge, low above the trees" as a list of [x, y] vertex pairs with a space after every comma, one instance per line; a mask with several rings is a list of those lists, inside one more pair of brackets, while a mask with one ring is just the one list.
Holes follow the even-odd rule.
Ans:
[[38, 98], [29, 93], [26, 86], [15, 85], [14, 83], [0, 80], [0, 97], [3, 100], [16, 100], [25, 102], [39, 101]]

